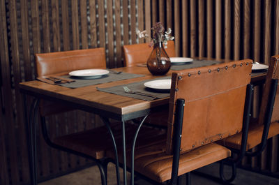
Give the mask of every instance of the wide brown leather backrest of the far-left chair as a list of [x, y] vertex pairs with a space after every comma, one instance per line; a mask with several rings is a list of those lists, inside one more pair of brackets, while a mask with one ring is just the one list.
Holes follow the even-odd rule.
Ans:
[[105, 48], [36, 54], [38, 77], [66, 75], [85, 68], [106, 68]]

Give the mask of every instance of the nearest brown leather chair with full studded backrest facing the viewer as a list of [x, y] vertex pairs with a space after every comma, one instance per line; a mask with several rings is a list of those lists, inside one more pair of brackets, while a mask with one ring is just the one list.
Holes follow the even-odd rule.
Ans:
[[231, 151], [215, 141], [248, 131], [251, 66], [246, 59], [172, 73], [167, 137], [137, 145], [128, 165], [152, 184], [176, 184], [178, 176], [228, 158]]

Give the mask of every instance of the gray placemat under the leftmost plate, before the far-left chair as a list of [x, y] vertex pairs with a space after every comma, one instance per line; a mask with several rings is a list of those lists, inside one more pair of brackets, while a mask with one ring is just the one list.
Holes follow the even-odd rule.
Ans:
[[120, 74], [114, 74], [109, 73], [108, 75], [104, 75], [103, 77], [97, 78], [97, 79], [80, 79], [77, 77], [70, 77], [69, 75], [63, 76], [65, 78], [73, 79], [75, 82], [70, 82], [66, 84], [59, 84], [63, 87], [69, 87], [69, 88], [77, 88], [77, 87], [86, 87], [94, 84], [104, 84], [107, 82], [114, 82], [119, 80], [126, 80], [131, 79], [135, 77], [143, 77], [144, 75], [137, 75], [132, 73], [120, 73]]

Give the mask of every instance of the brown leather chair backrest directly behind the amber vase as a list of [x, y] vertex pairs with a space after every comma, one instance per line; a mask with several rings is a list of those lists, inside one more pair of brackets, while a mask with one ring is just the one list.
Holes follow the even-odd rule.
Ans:
[[[124, 66], [130, 67], [136, 64], [146, 63], [152, 50], [153, 47], [149, 47], [149, 43], [123, 45]], [[173, 40], [167, 42], [165, 51], [169, 57], [176, 56]]]

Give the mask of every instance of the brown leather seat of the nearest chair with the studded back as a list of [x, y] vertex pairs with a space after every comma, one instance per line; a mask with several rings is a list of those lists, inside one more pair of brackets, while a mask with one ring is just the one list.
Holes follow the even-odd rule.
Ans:
[[[165, 149], [166, 140], [161, 140], [158, 144], [149, 147], [136, 148], [135, 171], [156, 182], [165, 182], [171, 179], [172, 155], [166, 154]], [[230, 154], [229, 149], [216, 143], [184, 152], [179, 159], [179, 175], [220, 161], [229, 157]], [[114, 157], [112, 151], [108, 152], [107, 155]], [[127, 151], [127, 158], [130, 158], [130, 155], [130, 151]], [[119, 156], [119, 161], [123, 162], [122, 154]], [[127, 165], [130, 166], [130, 160], [127, 161]]]

